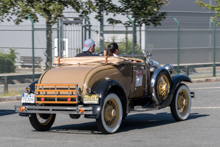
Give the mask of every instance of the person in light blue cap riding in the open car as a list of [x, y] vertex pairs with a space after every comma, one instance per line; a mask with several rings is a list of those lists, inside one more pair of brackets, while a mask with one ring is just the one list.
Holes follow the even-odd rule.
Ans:
[[93, 41], [92, 39], [87, 39], [84, 41], [83, 52], [77, 54], [76, 57], [98, 56], [98, 55], [92, 54], [92, 53], [94, 53], [94, 51], [95, 51], [95, 41]]

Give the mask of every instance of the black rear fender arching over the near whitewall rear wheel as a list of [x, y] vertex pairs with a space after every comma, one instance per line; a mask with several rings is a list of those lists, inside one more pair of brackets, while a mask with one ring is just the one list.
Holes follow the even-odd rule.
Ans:
[[[95, 84], [95, 85], [97, 85], [97, 84]], [[101, 81], [97, 86], [92, 88], [92, 93], [98, 94], [98, 96], [99, 96], [99, 108], [96, 107], [95, 110], [93, 110], [93, 113], [97, 114], [96, 119], [100, 117], [100, 112], [101, 112], [101, 109], [102, 109], [102, 106], [104, 103], [104, 98], [107, 96], [109, 90], [112, 88], [116, 88], [117, 90], [120, 91], [120, 95], [123, 96], [123, 99], [121, 99], [120, 95], [119, 95], [119, 98], [122, 100], [122, 105], [123, 104], [126, 105], [125, 111], [126, 112], [128, 111], [127, 96], [125, 93], [125, 89], [121, 85], [121, 83], [119, 83], [118, 81], [115, 81], [115, 80], [104, 80], [104, 81]], [[118, 93], [116, 93], [116, 94], [118, 94]], [[124, 105], [123, 105], [123, 108], [124, 108]]]

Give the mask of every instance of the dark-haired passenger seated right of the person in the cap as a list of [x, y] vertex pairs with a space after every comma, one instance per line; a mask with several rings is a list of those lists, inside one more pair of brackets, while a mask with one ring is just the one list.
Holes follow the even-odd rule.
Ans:
[[105, 63], [107, 63], [108, 57], [110, 56], [118, 57], [118, 53], [119, 53], [118, 44], [111, 43], [104, 51]]

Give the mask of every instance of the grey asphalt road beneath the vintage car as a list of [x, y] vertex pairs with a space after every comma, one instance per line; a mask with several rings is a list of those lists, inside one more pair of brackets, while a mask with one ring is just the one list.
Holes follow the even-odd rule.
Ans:
[[14, 105], [0, 103], [0, 147], [214, 147], [220, 146], [220, 82], [189, 84], [196, 93], [191, 114], [176, 122], [170, 109], [131, 113], [118, 132], [101, 134], [95, 120], [57, 115], [50, 131], [35, 131], [28, 118], [19, 117]]

